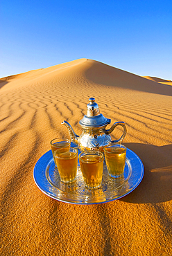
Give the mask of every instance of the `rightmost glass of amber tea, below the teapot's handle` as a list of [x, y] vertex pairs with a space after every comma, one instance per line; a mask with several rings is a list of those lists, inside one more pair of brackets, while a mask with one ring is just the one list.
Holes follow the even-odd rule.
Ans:
[[110, 144], [103, 147], [107, 172], [112, 178], [123, 176], [126, 163], [126, 147], [121, 144]]

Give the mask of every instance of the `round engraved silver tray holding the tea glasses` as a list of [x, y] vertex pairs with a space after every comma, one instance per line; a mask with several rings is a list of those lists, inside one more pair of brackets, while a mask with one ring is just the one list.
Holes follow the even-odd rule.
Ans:
[[51, 150], [37, 161], [33, 170], [35, 183], [44, 194], [58, 201], [80, 205], [106, 203], [120, 199], [135, 190], [143, 176], [144, 165], [137, 154], [130, 149], [127, 149], [126, 152], [123, 177], [110, 178], [104, 161], [102, 185], [101, 188], [96, 190], [85, 188], [79, 161], [76, 182], [69, 185], [60, 182], [60, 176], [58, 169], [55, 168]]

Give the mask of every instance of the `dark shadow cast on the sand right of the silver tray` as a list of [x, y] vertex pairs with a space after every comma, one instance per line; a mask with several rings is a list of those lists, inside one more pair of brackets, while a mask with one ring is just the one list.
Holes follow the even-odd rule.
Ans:
[[157, 147], [139, 143], [123, 143], [141, 158], [144, 178], [139, 186], [121, 201], [128, 203], [160, 203], [172, 199], [172, 145]]

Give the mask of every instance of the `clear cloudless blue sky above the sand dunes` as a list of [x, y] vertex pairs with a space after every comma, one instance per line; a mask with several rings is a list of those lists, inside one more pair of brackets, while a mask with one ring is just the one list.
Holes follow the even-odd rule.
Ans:
[[0, 1], [0, 77], [79, 58], [172, 80], [172, 0]]

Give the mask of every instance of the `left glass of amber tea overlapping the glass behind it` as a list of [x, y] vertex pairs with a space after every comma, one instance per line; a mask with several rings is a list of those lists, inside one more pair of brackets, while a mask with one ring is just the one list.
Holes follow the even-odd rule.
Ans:
[[70, 148], [67, 152], [54, 152], [55, 163], [58, 167], [60, 180], [63, 183], [72, 183], [76, 180], [78, 167], [78, 149]]

